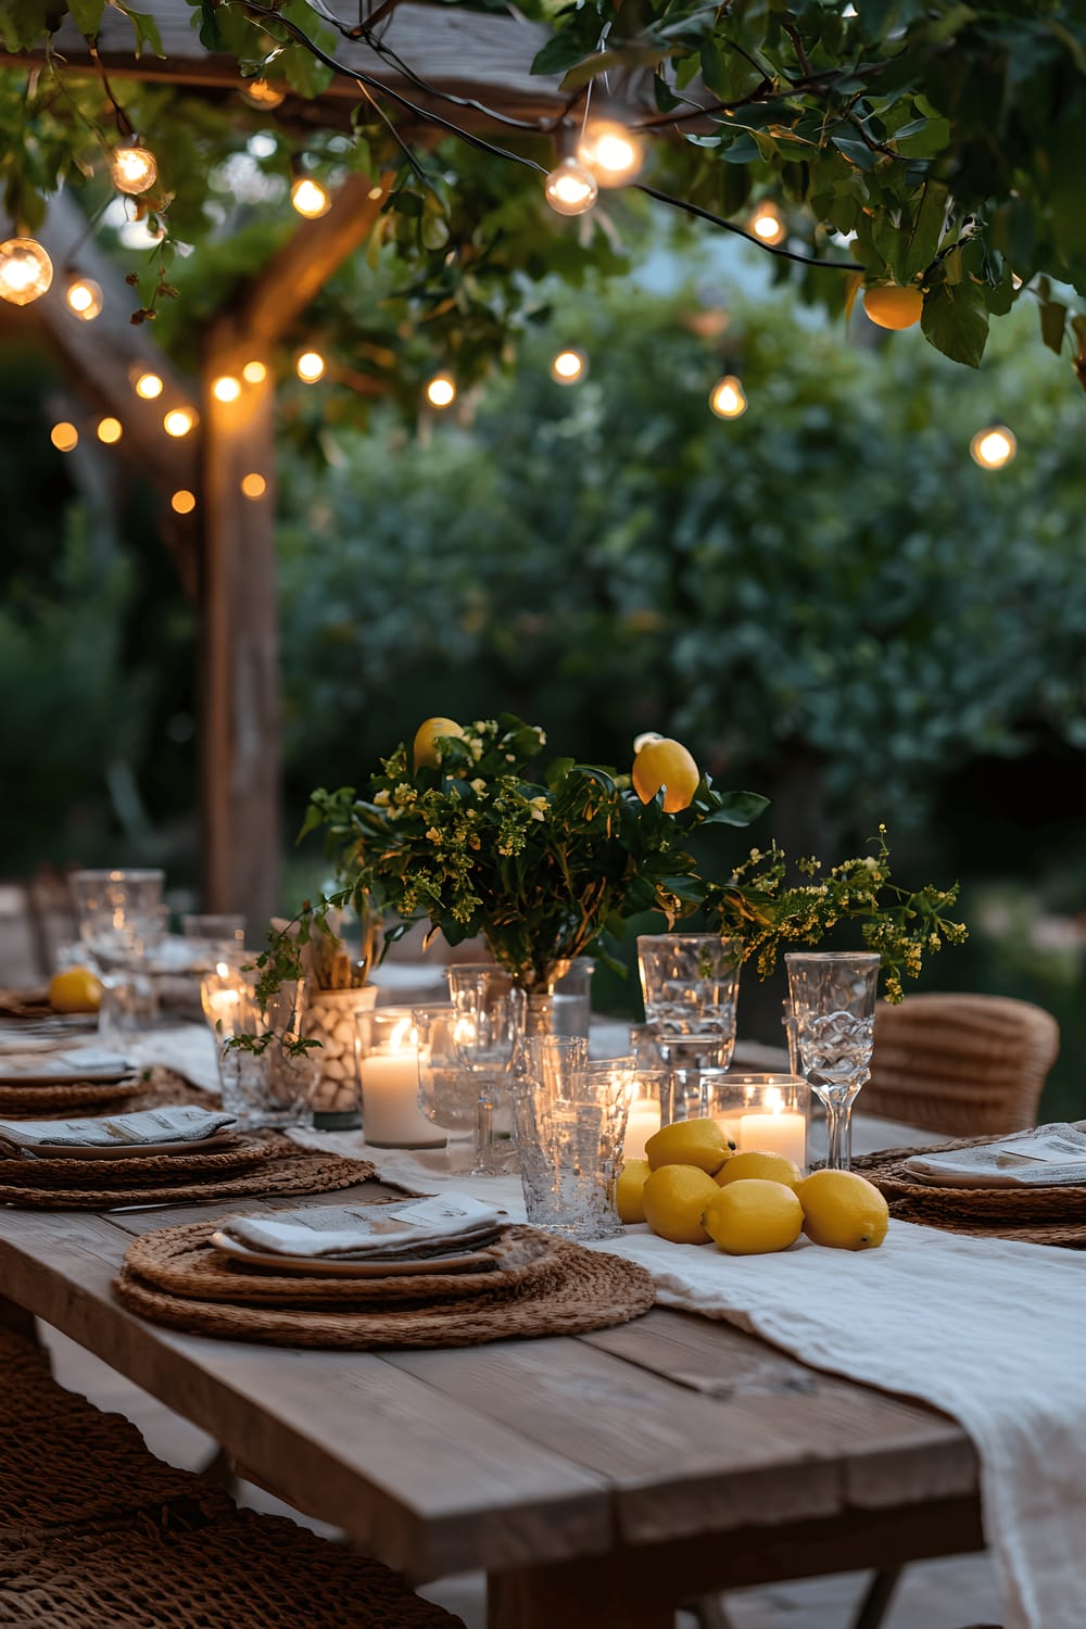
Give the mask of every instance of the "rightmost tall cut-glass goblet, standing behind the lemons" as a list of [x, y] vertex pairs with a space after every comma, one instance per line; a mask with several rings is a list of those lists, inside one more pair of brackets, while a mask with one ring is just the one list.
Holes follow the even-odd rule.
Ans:
[[825, 1104], [832, 1171], [852, 1165], [852, 1104], [869, 1077], [878, 951], [790, 951], [785, 956], [796, 1047], [811, 1091]]

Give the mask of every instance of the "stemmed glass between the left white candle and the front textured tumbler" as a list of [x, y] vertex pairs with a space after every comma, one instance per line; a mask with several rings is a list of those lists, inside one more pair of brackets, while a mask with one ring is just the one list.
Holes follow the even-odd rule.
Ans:
[[513, 1155], [510, 1082], [524, 1041], [524, 990], [492, 963], [446, 968], [456, 1018], [453, 1046], [461, 1069], [474, 1078], [479, 1153], [487, 1170], [505, 1168]]

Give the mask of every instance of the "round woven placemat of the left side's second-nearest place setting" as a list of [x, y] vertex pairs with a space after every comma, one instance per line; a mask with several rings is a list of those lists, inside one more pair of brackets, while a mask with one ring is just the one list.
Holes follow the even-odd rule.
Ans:
[[[313, 1153], [293, 1144], [275, 1144], [272, 1157], [249, 1171], [220, 1178], [161, 1183], [145, 1186], [107, 1186], [96, 1161], [98, 1186], [20, 1188], [0, 1181], [0, 1204], [29, 1210], [109, 1210], [112, 1205], [184, 1205], [204, 1199], [277, 1199], [280, 1194], [327, 1194], [337, 1188], [355, 1188], [376, 1171], [366, 1160], [342, 1160], [334, 1153]], [[0, 1175], [3, 1175], [0, 1171]]]

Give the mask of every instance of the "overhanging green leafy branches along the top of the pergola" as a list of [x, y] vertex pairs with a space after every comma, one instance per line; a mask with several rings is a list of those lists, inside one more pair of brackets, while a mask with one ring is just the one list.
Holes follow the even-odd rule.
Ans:
[[[243, 77], [274, 77], [295, 99], [319, 98], [335, 73], [357, 80], [337, 36], [396, 60], [386, 7], [374, 28], [306, 0], [189, 3], [208, 50], [233, 55]], [[119, 10], [134, 55], [163, 55], [153, 18]], [[519, 0], [518, 10], [534, 24], [523, 31], [524, 68], [560, 81], [571, 127], [591, 91], [596, 109], [615, 104], [651, 150], [645, 176], [580, 226], [542, 200], [562, 116], [518, 121], [475, 99], [467, 129], [462, 104], [427, 83], [425, 62], [404, 72], [415, 94], [420, 81], [430, 93], [428, 109], [373, 81], [350, 137], [337, 119], [319, 137], [311, 112], [277, 132], [283, 176], [301, 150], [326, 173], [394, 174], [373, 259], [392, 262], [397, 292], [435, 323], [435, 349], [464, 378], [500, 357], [498, 337], [516, 329], [544, 270], [580, 277], [586, 259], [619, 259], [612, 244], [628, 243], [646, 199], [747, 238], [752, 207], [772, 199], [788, 238], [769, 252], [808, 298], [842, 311], [860, 288], [915, 290], [925, 337], [969, 367], [990, 321], [1029, 301], [1044, 344], [1086, 384], [1086, 21], [1076, 0]], [[267, 112], [142, 88], [124, 91], [117, 114], [116, 93], [72, 75], [54, 42], [65, 23], [94, 41], [104, 15], [106, 0], [0, 0], [0, 50], [34, 65], [0, 85], [10, 213], [33, 226], [62, 181], [94, 192], [120, 117], [164, 155], [161, 187], [140, 210], [186, 244], [221, 238], [223, 166], [267, 127]], [[438, 145], [418, 140], [427, 122]], [[186, 127], [199, 132], [200, 163], [187, 161]], [[156, 316], [158, 295], [173, 293], [168, 266], [169, 243], [138, 316]], [[396, 360], [376, 365], [389, 384]]]

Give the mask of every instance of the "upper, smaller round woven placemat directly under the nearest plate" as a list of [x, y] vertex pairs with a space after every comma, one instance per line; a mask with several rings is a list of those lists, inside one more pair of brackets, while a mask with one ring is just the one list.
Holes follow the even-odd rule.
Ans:
[[472, 1302], [480, 1295], [539, 1292], [557, 1284], [557, 1240], [528, 1227], [508, 1228], [508, 1253], [484, 1272], [418, 1272], [388, 1279], [304, 1277], [238, 1261], [210, 1243], [207, 1222], [158, 1228], [137, 1238], [125, 1266], [148, 1287], [187, 1300], [236, 1306], [391, 1306]]

